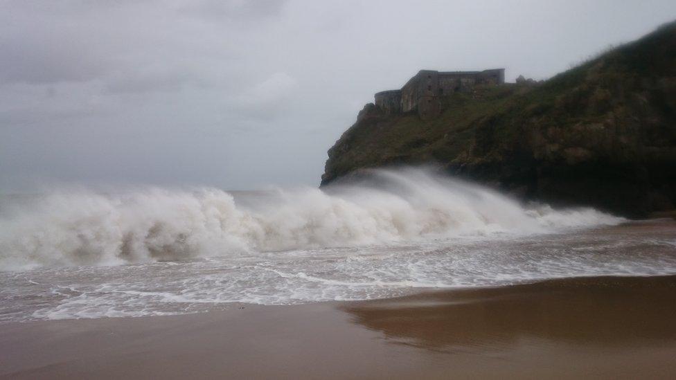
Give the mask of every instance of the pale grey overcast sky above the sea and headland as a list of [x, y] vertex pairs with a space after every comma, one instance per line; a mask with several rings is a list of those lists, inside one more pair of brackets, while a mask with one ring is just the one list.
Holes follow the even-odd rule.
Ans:
[[316, 186], [420, 69], [549, 78], [676, 1], [0, 0], [0, 191]]

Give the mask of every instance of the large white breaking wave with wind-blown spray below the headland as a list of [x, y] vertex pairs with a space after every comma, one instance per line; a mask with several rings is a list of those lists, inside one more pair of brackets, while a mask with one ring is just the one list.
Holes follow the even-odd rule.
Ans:
[[0, 270], [551, 233], [623, 221], [591, 208], [523, 206], [424, 170], [373, 175], [377, 181], [368, 184], [235, 197], [215, 188], [145, 188], [55, 190], [30, 201], [4, 200]]

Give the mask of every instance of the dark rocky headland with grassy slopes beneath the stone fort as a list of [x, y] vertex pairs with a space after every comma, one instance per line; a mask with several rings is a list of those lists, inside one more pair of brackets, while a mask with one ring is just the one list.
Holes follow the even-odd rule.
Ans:
[[322, 185], [436, 163], [524, 199], [643, 216], [676, 205], [676, 22], [551, 80], [476, 87], [434, 120], [366, 105]]

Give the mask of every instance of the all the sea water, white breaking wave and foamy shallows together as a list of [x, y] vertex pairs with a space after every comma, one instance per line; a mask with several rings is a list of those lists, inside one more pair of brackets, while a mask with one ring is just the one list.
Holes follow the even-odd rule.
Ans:
[[159, 316], [676, 273], [676, 224], [523, 205], [425, 170], [328, 190], [0, 198], [0, 322]]

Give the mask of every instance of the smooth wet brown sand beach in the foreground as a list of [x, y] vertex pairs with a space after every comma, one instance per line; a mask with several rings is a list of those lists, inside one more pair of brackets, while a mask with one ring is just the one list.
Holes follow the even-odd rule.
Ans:
[[0, 325], [0, 377], [676, 377], [676, 277]]

